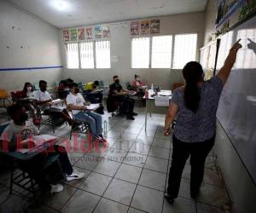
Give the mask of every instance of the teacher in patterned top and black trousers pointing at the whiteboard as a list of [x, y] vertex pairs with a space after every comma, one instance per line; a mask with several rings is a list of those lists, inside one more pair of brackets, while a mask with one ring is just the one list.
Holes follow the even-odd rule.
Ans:
[[218, 74], [204, 82], [201, 64], [190, 61], [183, 67], [185, 86], [176, 89], [166, 113], [165, 135], [177, 119], [172, 137], [172, 167], [168, 180], [166, 199], [173, 203], [177, 198], [183, 168], [190, 156], [190, 196], [196, 199], [204, 176], [207, 154], [210, 153], [216, 134], [216, 112], [224, 83], [236, 62], [241, 49], [240, 39], [230, 49], [224, 66]]

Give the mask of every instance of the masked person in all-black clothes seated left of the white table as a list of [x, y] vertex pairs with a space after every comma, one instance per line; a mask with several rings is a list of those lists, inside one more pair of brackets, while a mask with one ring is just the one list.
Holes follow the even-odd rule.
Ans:
[[119, 76], [113, 76], [113, 83], [109, 85], [109, 98], [113, 102], [122, 103], [120, 113], [124, 113], [127, 119], [134, 120], [133, 116], [136, 116], [137, 113], [133, 112], [134, 100], [128, 96], [129, 94], [130, 91], [124, 89], [119, 83]]

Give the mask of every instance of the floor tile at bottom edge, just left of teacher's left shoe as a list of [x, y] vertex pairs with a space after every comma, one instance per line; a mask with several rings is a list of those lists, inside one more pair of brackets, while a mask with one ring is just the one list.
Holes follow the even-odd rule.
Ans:
[[147, 212], [161, 212], [164, 193], [148, 187], [137, 186], [131, 207]]

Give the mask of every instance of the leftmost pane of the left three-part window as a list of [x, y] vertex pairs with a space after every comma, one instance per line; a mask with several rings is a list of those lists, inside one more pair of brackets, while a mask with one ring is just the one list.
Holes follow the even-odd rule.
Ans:
[[79, 69], [79, 43], [67, 43], [67, 68]]

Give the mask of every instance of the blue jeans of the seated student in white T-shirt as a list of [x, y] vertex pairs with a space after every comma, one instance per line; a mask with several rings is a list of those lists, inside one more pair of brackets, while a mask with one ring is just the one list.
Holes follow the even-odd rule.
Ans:
[[96, 112], [79, 112], [73, 115], [74, 118], [90, 125], [93, 136], [102, 135], [102, 116]]

